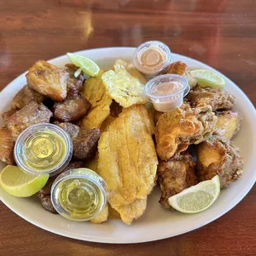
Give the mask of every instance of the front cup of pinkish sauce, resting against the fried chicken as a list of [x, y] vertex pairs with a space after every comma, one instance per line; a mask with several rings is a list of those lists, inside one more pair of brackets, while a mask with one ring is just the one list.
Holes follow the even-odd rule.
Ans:
[[170, 73], [149, 80], [145, 85], [145, 94], [157, 111], [167, 112], [183, 105], [183, 97], [189, 89], [187, 78]]

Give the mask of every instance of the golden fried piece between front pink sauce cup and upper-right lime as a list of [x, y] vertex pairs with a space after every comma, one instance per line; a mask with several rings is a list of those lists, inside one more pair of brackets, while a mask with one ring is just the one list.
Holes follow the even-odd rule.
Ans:
[[190, 88], [194, 88], [197, 85], [197, 78], [192, 75], [190, 70], [187, 68], [187, 64], [184, 64], [182, 61], [173, 62], [166, 73], [183, 75], [185, 78], [187, 78]]

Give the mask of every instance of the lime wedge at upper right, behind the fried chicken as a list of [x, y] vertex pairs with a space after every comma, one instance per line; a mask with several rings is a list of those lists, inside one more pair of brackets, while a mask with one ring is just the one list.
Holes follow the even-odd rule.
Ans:
[[201, 87], [210, 87], [213, 89], [225, 87], [225, 79], [218, 73], [207, 69], [192, 70], [191, 73], [197, 78], [197, 83]]

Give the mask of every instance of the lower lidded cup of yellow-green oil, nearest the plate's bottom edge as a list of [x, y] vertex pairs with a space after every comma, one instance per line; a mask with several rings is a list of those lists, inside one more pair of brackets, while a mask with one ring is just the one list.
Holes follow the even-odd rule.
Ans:
[[107, 183], [91, 169], [70, 169], [55, 179], [51, 201], [55, 210], [69, 220], [91, 220], [106, 206]]

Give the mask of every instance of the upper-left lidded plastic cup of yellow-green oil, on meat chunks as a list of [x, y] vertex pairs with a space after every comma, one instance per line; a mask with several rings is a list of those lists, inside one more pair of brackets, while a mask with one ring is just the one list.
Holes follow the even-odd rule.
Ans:
[[36, 175], [56, 175], [69, 164], [72, 153], [73, 143], [69, 134], [48, 123], [24, 130], [14, 148], [17, 166]]

